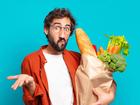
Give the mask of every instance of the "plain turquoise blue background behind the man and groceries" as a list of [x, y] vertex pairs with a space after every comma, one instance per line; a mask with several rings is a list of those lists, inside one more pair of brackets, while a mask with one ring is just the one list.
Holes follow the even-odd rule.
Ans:
[[[125, 35], [131, 45], [127, 68], [114, 73], [117, 93], [111, 105], [140, 105], [139, 0], [0, 0], [0, 105], [23, 105], [22, 89], [13, 91], [8, 75], [20, 73], [23, 58], [47, 44], [43, 20], [56, 7], [66, 7], [97, 47], [107, 45], [104, 34]], [[79, 51], [73, 35], [68, 49]]]

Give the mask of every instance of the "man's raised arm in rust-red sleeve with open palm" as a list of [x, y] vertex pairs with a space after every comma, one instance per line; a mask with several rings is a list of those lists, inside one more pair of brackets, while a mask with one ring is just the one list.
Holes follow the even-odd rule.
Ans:
[[23, 86], [23, 100], [25, 105], [38, 105], [39, 96], [43, 95], [43, 92], [31, 75], [32, 71], [27, 57], [24, 59], [21, 69], [22, 74], [8, 77], [9, 80], [16, 79], [12, 88], [16, 90], [18, 87]]

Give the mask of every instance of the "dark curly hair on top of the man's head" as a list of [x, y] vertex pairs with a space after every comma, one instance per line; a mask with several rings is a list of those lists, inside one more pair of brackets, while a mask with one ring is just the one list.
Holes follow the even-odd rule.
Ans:
[[75, 29], [76, 21], [70, 11], [66, 8], [55, 8], [54, 10], [49, 12], [49, 14], [44, 19], [44, 28], [49, 29], [53, 19], [61, 19], [64, 17], [68, 17], [71, 21], [71, 36]]

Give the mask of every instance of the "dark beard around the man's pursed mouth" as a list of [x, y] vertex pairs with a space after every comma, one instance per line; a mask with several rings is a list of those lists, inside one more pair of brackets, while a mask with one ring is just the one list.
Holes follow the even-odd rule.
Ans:
[[50, 45], [58, 52], [64, 51], [67, 46], [67, 41], [65, 38], [59, 37], [58, 41], [55, 43], [51, 36], [46, 35]]

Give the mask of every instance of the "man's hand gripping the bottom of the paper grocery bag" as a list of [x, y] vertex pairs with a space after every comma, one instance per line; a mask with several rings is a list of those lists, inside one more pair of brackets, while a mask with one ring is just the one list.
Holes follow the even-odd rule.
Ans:
[[[114, 87], [112, 87], [114, 88]], [[115, 96], [115, 90], [110, 89], [108, 92], [103, 91], [100, 88], [93, 89], [93, 92], [97, 95], [97, 102], [93, 105], [109, 105]]]

